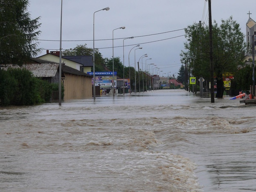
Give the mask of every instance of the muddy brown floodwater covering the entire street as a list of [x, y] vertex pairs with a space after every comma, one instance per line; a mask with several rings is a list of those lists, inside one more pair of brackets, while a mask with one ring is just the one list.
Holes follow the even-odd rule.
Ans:
[[0, 191], [256, 191], [256, 106], [184, 90], [0, 107]]

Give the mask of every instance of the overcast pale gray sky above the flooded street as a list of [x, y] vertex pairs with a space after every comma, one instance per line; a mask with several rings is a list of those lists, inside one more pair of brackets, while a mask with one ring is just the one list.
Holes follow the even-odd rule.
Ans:
[[[130, 66], [134, 67], [134, 61], [138, 62], [147, 54], [148, 57], [142, 58], [143, 70], [146, 64], [154, 63], [160, 68], [160, 76], [175, 73], [177, 76], [181, 66], [180, 52], [184, 50], [185, 42], [182, 36], [185, 33], [181, 29], [199, 21], [208, 25], [208, 1], [205, 0], [63, 0], [62, 49], [82, 44], [93, 48], [93, 13], [105, 7], [110, 10], [95, 13], [95, 48], [99, 48], [103, 58], [112, 58], [114, 33], [114, 39], [117, 39], [114, 40], [114, 57], [119, 56], [123, 62], [123, 42], [129, 45], [124, 47], [124, 65], [128, 66], [130, 50], [140, 44], [142, 49], [135, 51], [135, 57], [135, 48], [130, 52]], [[212, 0], [211, 7], [212, 20], [221, 24], [221, 19], [233, 16], [244, 34], [249, 11], [252, 13], [250, 17], [256, 20], [255, 0]], [[31, 18], [41, 17], [38, 48], [45, 50], [40, 55], [46, 54], [47, 49], [58, 50], [61, 0], [30, 0], [28, 11]], [[126, 28], [114, 30], [122, 26]], [[134, 38], [118, 39], [128, 37]]]

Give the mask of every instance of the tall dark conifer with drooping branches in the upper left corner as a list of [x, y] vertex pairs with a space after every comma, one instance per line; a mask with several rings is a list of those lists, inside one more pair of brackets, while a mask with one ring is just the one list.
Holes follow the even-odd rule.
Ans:
[[0, 1], [0, 62], [22, 65], [37, 49], [40, 17], [31, 19], [27, 12], [28, 0]]

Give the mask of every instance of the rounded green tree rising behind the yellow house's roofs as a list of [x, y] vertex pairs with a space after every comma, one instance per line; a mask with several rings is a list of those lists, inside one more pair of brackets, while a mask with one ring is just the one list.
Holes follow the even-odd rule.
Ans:
[[[62, 56], [93, 56], [93, 49], [86, 47], [87, 44], [77, 45], [74, 49], [70, 48], [62, 52]], [[105, 60], [99, 49], [95, 49], [95, 71], [105, 71]]]

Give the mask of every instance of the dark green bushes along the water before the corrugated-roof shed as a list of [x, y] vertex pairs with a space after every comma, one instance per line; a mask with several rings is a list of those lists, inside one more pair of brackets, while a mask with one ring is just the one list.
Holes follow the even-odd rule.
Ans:
[[[35, 78], [26, 69], [0, 69], [0, 103], [7, 105], [31, 105], [50, 102], [52, 91], [58, 84]], [[64, 86], [62, 85], [62, 98]]]

